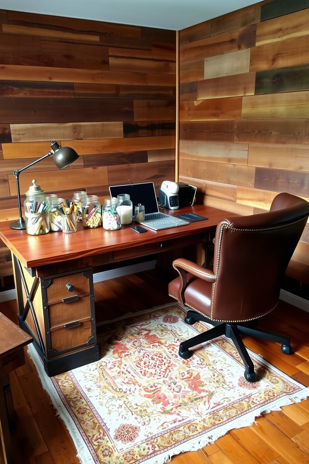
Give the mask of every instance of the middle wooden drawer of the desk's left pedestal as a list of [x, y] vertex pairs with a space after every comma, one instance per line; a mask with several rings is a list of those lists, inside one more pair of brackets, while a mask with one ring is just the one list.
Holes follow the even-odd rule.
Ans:
[[48, 306], [50, 330], [72, 321], [79, 321], [91, 316], [89, 296], [76, 296], [69, 303], [56, 303]]

